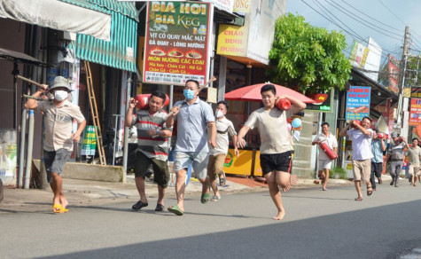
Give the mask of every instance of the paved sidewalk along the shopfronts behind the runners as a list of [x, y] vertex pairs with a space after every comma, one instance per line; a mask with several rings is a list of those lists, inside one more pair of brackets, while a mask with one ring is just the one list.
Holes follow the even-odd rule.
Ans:
[[[298, 179], [294, 188], [320, 187], [320, 184], [314, 183], [315, 179]], [[154, 204], [158, 197], [156, 184], [149, 178], [146, 178], [146, 195], [149, 202]], [[330, 185], [353, 184], [347, 180], [331, 179]], [[186, 187], [186, 195], [200, 197], [201, 184], [198, 180], [191, 178], [191, 182]], [[218, 186], [222, 196], [237, 192], [267, 192], [267, 184], [263, 184], [246, 177], [227, 177], [227, 184], [223, 187]], [[132, 202], [136, 203], [139, 194], [136, 190], [135, 177], [128, 176], [127, 183], [111, 183], [88, 180], [63, 179], [63, 189], [66, 199], [69, 201], [69, 208], [72, 205], [78, 207], [98, 206], [106, 203]], [[175, 199], [175, 187], [168, 186], [166, 191], [166, 200]], [[17, 212], [50, 212], [52, 204], [51, 189], [5, 189], [4, 200], [0, 203], [0, 215], [4, 213]]]

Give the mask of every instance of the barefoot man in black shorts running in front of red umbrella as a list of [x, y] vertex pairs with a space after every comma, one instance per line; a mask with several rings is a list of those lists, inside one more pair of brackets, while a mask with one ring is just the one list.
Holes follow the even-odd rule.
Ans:
[[[288, 111], [279, 110], [276, 106], [279, 98], [288, 98], [292, 103], [292, 108]], [[275, 220], [281, 220], [285, 216], [285, 208], [282, 205], [278, 185], [284, 192], [290, 189], [291, 142], [286, 119], [306, 108], [306, 104], [296, 98], [288, 96], [279, 98], [275, 86], [263, 85], [261, 101], [264, 107], [250, 114], [244, 127], [239, 130], [237, 138], [237, 146], [244, 147], [246, 145], [244, 137], [247, 131], [254, 127], [259, 130], [261, 171], [268, 182], [270, 197], [277, 207], [277, 216], [273, 217]]]

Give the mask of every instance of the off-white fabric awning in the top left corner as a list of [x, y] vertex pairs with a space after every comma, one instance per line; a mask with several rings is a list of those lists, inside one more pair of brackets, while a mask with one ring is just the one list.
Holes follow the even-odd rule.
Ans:
[[87, 0], [0, 0], [0, 17], [105, 41], [111, 37], [111, 12]]

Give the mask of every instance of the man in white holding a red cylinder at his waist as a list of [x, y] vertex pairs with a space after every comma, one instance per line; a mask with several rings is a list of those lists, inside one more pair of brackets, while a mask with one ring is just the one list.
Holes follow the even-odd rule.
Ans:
[[319, 145], [319, 178], [322, 180], [322, 190], [327, 191], [327, 182], [329, 181], [329, 170], [331, 169], [331, 158], [324, 153], [324, 150], [320, 147], [322, 143], [326, 143], [334, 153], [338, 153], [338, 141], [336, 137], [331, 134], [329, 130], [329, 123], [322, 123], [322, 133], [317, 135], [311, 145]]

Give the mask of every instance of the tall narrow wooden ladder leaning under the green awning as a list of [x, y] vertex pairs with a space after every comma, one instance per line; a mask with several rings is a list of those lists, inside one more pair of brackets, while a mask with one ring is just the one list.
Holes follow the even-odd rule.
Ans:
[[95, 99], [95, 92], [92, 85], [92, 75], [90, 74], [90, 62], [85, 60], [84, 63], [86, 70], [88, 96], [90, 99], [90, 114], [92, 114], [92, 121], [94, 122], [95, 134], [97, 135], [97, 149], [99, 161], [101, 165], [106, 165], [104, 145], [102, 143], [101, 126], [99, 125], [99, 118], [97, 112], [97, 100]]

